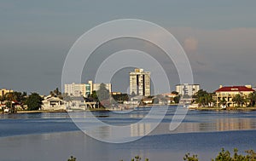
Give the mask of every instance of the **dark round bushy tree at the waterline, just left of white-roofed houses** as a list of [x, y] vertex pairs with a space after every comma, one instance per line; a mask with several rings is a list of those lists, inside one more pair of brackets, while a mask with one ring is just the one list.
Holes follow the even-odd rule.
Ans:
[[31, 95], [28, 95], [26, 99], [27, 110], [41, 109], [41, 106], [43, 105], [42, 101], [43, 98], [37, 93], [32, 93]]

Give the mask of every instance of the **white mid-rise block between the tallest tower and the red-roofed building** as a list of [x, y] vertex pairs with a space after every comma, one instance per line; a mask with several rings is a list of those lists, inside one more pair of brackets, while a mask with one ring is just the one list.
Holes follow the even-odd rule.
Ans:
[[199, 84], [184, 83], [176, 85], [176, 91], [179, 95], [195, 95], [198, 90], [200, 90]]

